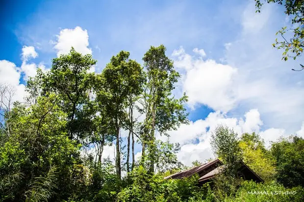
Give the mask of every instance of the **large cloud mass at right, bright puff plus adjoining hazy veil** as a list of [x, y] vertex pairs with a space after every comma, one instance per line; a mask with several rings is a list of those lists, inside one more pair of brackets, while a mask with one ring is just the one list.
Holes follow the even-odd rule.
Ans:
[[236, 117], [258, 109], [265, 128], [284, 128], [289, 134], [298, 130], [304, 121], [303, 77], [290, 70], [298, 61], [281, 61], [281, 52], [272, 47], [284, 20], [275, 10], [267, 5], [255, 14], [253, 3], [246, 7], [236, 40], [225, 44], [220, 60], [225, 64], [196, 58], [182, 46], [173, 51], [182, 74], [181, 91], [192, 109], [203, 104]]

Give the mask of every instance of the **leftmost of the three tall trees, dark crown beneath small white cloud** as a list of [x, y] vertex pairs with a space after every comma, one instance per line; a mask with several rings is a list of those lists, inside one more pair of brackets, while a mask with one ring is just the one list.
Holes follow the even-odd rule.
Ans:
[[69, 54], [52, 60], [51, 70], [44, 77], [44, 91], [60, 95], [62, 110], [68, 114], [70, 139], [83, 138], [76, 114], [89, 100], [91, 85], [88, 70], [96, 64], [92, 55], [81, 55], [72, 47]]

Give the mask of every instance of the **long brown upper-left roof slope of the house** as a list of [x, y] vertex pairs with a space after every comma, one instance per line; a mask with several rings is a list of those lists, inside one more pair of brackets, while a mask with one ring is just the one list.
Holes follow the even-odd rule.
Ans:
[[194, 168], [191, 168], [191, 169], [188, 169], [188, 170], [185, 170], [185, 171], [180, 171], [180, 172], [175, 173], [173, 175], [167, 176], [164, 179], [169, 179], [169, 178], [171, 178], [171, 179], [183, 179], [183, 178], [186, 178], [186, 177], [190, 177], [190, 176], [193, 176], [195, 174], [198, 174], [198, 173], [204, 171], [205, 169], [209, 168], [211, 165], [213, 165], [215, 163], [223, 164], [219, 159], [215, 159], [215, 160], [212, 160], [210, 162], [203, 163], [203, 164], [201, 164], [197, 167], [194, 167]]

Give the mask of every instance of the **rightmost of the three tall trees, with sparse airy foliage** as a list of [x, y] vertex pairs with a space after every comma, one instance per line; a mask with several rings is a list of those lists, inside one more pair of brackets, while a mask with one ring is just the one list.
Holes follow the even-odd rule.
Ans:
[[[175, 130], [181, 123], [187, 123], [187, 113], [183, 103], [187, 101], [184, 94], [176, 99], [173, 95], [175, 84], [180, 77], [174, 69], [173, 61], [166, 56], [164, 45], [151, 46], [143, 57], [147, 69], [147, 82], [144, 86], [142, 111], [146, 117], [141, 127], [142, 162], [147, 158], [150, 173], [154, 172], [156, 144], [155, 132], [166, 135], [168, 130]], [[145, 150], [148, 149], [146, 157]]]

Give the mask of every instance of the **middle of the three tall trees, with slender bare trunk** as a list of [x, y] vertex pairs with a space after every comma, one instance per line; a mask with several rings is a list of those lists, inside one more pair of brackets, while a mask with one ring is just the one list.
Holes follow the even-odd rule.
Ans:
[[[129, 123], [133, 122], [131, 116], [127, 117], [126, 108], [132, 108], [134, 96], [141, 92], [140, 84], [143, 79], [142, 67], [128, 57], [127, 51], [121, 51], [117, 56], [113, 56], [98, 76], [98, 83], [101, 85], [97, 90], [97, 100], [104, 103], [104, 111], [110, 117], [110, 124], [114, 127], [113, 134], [116, 137], [115, 165], [118, 178], [121, 178], [120, 130], [123, 127], [129, 129]], [[132, 133], [132, 129], [130, 131]]]

